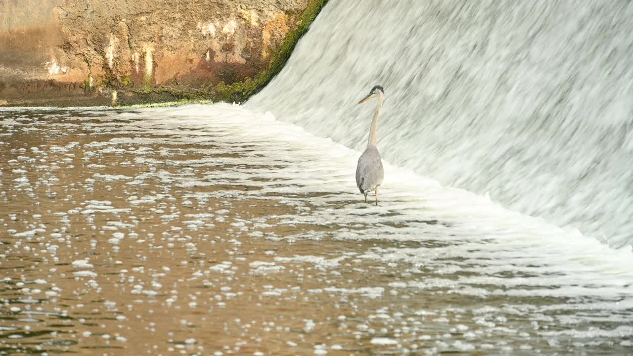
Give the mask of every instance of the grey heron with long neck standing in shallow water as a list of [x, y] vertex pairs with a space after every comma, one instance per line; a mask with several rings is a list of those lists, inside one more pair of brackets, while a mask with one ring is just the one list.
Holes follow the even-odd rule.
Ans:
[[369, 130], [369, 141], [367, 148], [363, 154], [358, 158], [358, 165], [356, 166], [356, 186], [360, 189], [360, 193], [365, 194], [365, 203], [367, 203], [367, 193], [375, 191], [376, 193], [376, 205], [378, 205], [378, 193], [380, 191], [380, 184], [384, 178], [385, 172], [382, 168], [382, 161], [380, 160], [380, 153], [378, 152], [378, 115], [380, 114], [380, 108], [382, 102], [385, 100], [385, 92], [381, 86], [375, 86], [368, 96], [365, 96], [358, 103], [365, 103], [365, 101], [377, 98], [378, 104], [376, 105], [376, 111], [373, 113], [372, 125]]

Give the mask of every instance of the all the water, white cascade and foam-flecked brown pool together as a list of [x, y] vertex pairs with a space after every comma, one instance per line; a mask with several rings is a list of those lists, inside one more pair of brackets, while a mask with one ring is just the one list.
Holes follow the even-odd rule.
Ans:
[[330, 0], [246, 107], [1, 110], [0, 355], [630, 352], [630, 5], [478, 5]]

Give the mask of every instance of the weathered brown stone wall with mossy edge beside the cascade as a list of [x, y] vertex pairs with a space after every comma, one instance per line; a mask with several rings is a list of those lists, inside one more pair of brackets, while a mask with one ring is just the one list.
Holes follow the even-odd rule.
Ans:
[[0, 105], [242, 101], [327, 0], [0, 0]]

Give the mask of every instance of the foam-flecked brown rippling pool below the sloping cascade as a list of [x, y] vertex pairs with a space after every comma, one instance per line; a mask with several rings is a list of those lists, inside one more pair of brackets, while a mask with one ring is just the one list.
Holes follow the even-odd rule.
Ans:
[[0, 111], [0, 354], [624, 354], [633, 260], [235, 105]]

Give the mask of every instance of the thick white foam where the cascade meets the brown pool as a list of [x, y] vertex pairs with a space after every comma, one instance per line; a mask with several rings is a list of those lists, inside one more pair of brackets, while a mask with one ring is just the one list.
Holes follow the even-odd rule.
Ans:
[[[548, 261], [560, 265], [563, 269], [579, 270], [584, 276], [591, 276], [592, 279], [598, 277], [594, 278], [593, 274], [587, 274], [587, 269], [598, 276], [603, 273], [609, 274], [614, 281], [619, 279], [619, 285], [623, 284], [621, 281], [629, 280], [633, 274], [630, 249], [612, 250], [574, 229], [562, 229], [540, 218], [511, 212], [486, 197], [462, 189], [444, 187], [437, 181], [422, 177], [412, 170], [395, 167], [388, 162], [384, 162], [384, 194], [381, 196], [380, 206], [366, 205], [362, 203], [361, 196], [354, 188], [353, 172], [358, 151], [333, 143], [331, 139], [313, 136], [296, 125], [280, 122], [270, 113], [258, 113], [242, 106], [228, 104], [187, 105], [179, 108], [140, 109], [137, 110], [137, 118], [142, 120], [119, 123], [116, 127], [111, 127], [111, 130], [125, 132], [125, 128], [129, 126], [146, 130], [151, 134], [163, 135], [181, 127], [189, 127], [192, 130], [187, 130], [187, 136], [174, 137], [170, 139], [169, 144], [255, 148], [240, 151], [240, 158], [196, 160], [202, 164], [200, 167], [206, 167], [205, 162], [211, 162], [213, 165], [246, 163], [252, 165], [248, 170], [210, 170], [204, 172], [203, 177], [187, 172], [173, 174], [166, 170], [156, 170], [144, 174], [145, 178], [159, 177], [165, 182], [177, 182], [179, 186], [192, 189], [218, 184], [246, 184], [258, 189], [240, 191], [240, 194], [264, 199], [277, 199], [279, 196], [283, 197], [286, 203], [294, 204], [293, 201], [296, 201], [299, 206], [303, 205], [303, 198], [294, 198], [295, 194], [322, 194], [320, 198], [314, 199], [313, 204], [316, 206], [326, 206], [337, 201], [348, 202], [334, 210], [323, 208], [311, 210], [308, 214], [290, 215], [287, 217], [289, 224], [383, 224], [376, 234], [372, 234], [371, 231], [356, 232], [349, 229], [337, 232], [338, 238], [345, 239], [406, 240], [418, 239], [420, 234], [427, 237], [437, 234], [442, 239], [454, 238], [460, 241], [463, 236], [467, 236], [479, 250], [473, 254], [473, 258], [496, 257], [492, 259], [489, 269], [501, 268], [507, 264], [504, 258], [514, 258], [516, 255], [524, 260], [529, 256], [534, 262]], [[86, 122], [84, 125], [91, 127], [97, 124]], [[153, 142], [153, 139], [144, 141]], [[106, 151], [122, 143], [128, 144], [129, 141], [112, 139], [108, 146], [105, 146]], [[127, 149], [123, 151], [124, 155], [134, 154], [134, 151]], [[137, 163], [147, 164], [151, 160], [156, 158], [144, 158]], [[182, 161], [163, 157], [155, 162], [170, 166]], [[189, 164], [191, 162], [185, 163], [184, 166], [188, 167]], [[275, 168], [270, 168], [273, 166]], [[254, 181], [254, 178], [258, 180]], [[270, 184], [270, 181], [282, 184]], [[223, 196], [229, 192], [225, 190], [196, 195], [197, 198], [204, 198]], [[112, 207], [110, 201], [86, 203], [87, 206], [82, 210], [83, 214], [129, 211], [127, 208]], [[384, 214], [387, 212], [398, 213], [389, 216]], [[216, 213], [221, 215], [223, 210]], [[167, 214], [165, 217], [172, 215]], [[441, 223], [429, 224], [429, 221]], [[393, 223], [405, 226], [388, 225]], [[446, 236], [447, 231], [450, 231], [453, 237]], [[315, 237], [320, 234], [323, 236], [323, 232], [313, 232]], [[481, 240], [487, 238], [493, 238], [501, 245], [482, 243]], [[499, 251], [501, 246], [503, 248]], [[470, 247], [472, 246], [451, 246], [446, 248], [446, 253], [458, 255], [465, 253]], [[425, 252], [420, 250], [414, 254], [423, 253]], [[380, 258], [387, 258], [387, 255]], [[494, 260], [499, 260], [499, 263], [495, 264]], [[567, 263], [569, 265], [565, 265]]]

